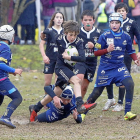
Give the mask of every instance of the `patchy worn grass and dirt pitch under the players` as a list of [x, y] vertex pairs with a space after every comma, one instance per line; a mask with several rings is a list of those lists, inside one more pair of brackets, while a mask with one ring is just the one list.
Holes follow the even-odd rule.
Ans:
[[[15, 46], [14, 46], [15, 47]], [[19, 51], [17, 48], [16, 51]], [[30, 71], [30, 63], [28, 66], [28, 71], [24, 71], [22, 77], [20, 76], [10, 76], [11, 81], [19, 89], [23, 96], [23, 102], [17, 108], [17, 110], [12, 115], [11, 119], [13, 124], [16, 125], [16, 129], [9, 129], [6, 126], [0, 125], [0, 140], [131, 140], [140, 139], [140, 73], [132, 73], [132, 77], [135, 82], [134, 99], [132, 105], [132, 112], [137, 114], [137, 118], [133, 121], [124, 121], [124, 111], [112, 112], [111, 108], [109, 111], [103, 112], [102, 108], [107, 100], [107, 93], [104, 90], [101, 97], [98, 98], [97, 106], [91, 110], [83, 123], [76, 124], [72, 116], [55, 123], [29, 123], [29, 111], [28, 107], [31, 104], [37, 103], [43, 98], [44, 91], [44, 74], [42, 73], [43, 65], [42, 58], [37, 46], [36, 50], [27, 48], [27, 46], [21, 46], [21, 50], [24, 48], [24, 53], [19, 55], [13, 53], [13, 65], [19, 67], [22, 66], [26, 60], [31, 56], [32, 53], [36, 53], [34, 58], [34, 63], [32, 67], [37, 71]], [[17, 49], [17, 50], [16, 50]], [[31, 49], [31, 51], [30, 51]], [[23, 51], [23, 50], [22, 50]], [[26, 52], [27, 51], [27, 52]], [[28, 55], [27, 55], [28, 53]], [[14, 56], [16, 55], [16, 57]], [[24, 58], [26, 57], [26, 59]], [[32, 54], [33, 57], [33, 54]], [[14, 60], [15, 59], [15, 60]], [[32, 60], [32, 58], [30, 58]], [[37, 59], [37, 61], [36, 61]], [[19, 61], [16, 63], [16, 61]], [[22, 62], [23, 61], [23, 62]], [[20, 63], [22, 62], [22, 63]], [[33, 62], [32, 62], [33, 63]], [[24, 67], [24, 69], [26, 66]], [[32, 69], [32, 68], [31, 68]], [[33, 70], [32, 69], [32, 70]], [[95, 76], [96, 77], [96, 76]], [[88, 92], [84, 100], [86, 101], [88, 95], [93, 90], [94, 81], [90, 84]], [[118, 98], [118, 88], [114, 85], [115, 99]], [[5, 97], [4, 103], [0, 109], [0, 115], [3, 115], [6, 106], [10, 102], [10, 99]], [[45, 109], [42, 109], [44, 112]]]

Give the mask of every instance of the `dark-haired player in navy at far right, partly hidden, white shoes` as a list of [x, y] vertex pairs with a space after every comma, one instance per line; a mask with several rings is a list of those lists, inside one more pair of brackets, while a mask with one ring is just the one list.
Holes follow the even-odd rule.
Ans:
[[[134, 36], [136, 36], [137, 42], [138, 42], [138, 48], [139, 48], [137, 57], [138, 59], [140, 59], [140, 29], [134, 20], [129, 19], [127, 17], [127, 14], [129, 12], [128, 6], [125, 3], [120, 2], [115, 6], [115, 12], [120, 13], [123, 16], [123, 23], [121, 25], [121, 28], [130, 35], [132, 42], [134, 40]], [[125, 54], [124, 54], [124, 63], [130, 73], [132, 58], [127, 53], [127, 51], [125, 51]], [[119, 87], [118, 104], [115, 106], [115, 108], [112, 111], [123, 110], [124, 94], [125, 94], [125, 87], [124, 86]], [[106, 102], [105, 107], [104, 107], [107, 110], [112, 106], [113, 92], [111, 94], [109, 93], [108, 96], [109, 96], [109, 99]]]

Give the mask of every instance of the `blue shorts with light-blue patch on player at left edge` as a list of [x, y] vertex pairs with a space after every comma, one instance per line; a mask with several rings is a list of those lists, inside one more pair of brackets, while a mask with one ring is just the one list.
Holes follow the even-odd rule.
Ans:
[[9, 95], [15, 92], [17, 88], [11, 83], [9, 78], [4, 81], [0, 81], [0, 94]]

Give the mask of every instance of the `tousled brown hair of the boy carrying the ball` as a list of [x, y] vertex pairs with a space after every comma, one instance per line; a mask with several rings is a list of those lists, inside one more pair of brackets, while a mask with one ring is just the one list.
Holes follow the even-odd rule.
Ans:
[[73, 20], [64, 22], [63, 28], [64, 28], [64, 33], [75, 32], [75, 34], [77, 35], [80, 33], [80, 25], [78, 24], [78, 22]]

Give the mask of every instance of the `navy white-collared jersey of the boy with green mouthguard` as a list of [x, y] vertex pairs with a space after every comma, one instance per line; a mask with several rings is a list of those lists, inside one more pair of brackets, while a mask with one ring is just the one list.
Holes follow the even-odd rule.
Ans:
[[88, 48], [87, 43], [92, 42], [95, 45], [100, 35], [101, 31], [95, 27], [93, 27], [91, 31], [86, 31], [84, 27], [81, 27], [80, 29], [80, 34], [78, 35], [78, 37], [80, 37], [83, 41], [83, 47], [86, 57], [85, 63], [88, 65], [94, 65], [94, 63], [97, 63], [97, 57], [94, 56], [94, 48]]

